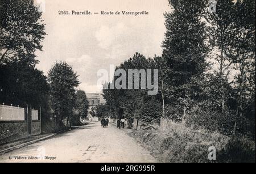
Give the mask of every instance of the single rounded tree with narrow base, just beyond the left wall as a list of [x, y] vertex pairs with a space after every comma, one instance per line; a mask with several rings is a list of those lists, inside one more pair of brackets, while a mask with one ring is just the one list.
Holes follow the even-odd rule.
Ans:
[[48, 72], [48, 82], [51, 88], [51, 108], [61, 124], [73, 114], [76, 101], [76, 87], [79, 86], [78, 75], [66, 62], [56, 63]]

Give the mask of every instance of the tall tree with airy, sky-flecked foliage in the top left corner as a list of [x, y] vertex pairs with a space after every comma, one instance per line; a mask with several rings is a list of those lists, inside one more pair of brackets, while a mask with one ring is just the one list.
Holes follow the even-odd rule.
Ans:
[[22, 59], [36, 62], [34, 52], [42, 50], [46, 35], [41, 15], [33, 1], [0, 0], [0, 65]]

